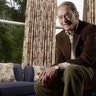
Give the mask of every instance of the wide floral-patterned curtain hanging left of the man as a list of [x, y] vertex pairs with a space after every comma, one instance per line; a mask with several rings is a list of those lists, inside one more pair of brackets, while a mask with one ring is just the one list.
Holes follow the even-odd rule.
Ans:
[[55, 61], [56, 0], [27, 0], [23, 68]]

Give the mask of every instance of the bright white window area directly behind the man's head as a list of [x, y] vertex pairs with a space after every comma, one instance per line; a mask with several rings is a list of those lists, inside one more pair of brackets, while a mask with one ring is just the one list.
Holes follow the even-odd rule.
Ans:
[[[82, 20], [83, 19], [83, 0], [79, 0], [79, 2], [78, 2], [78, 0], [57, 0], [57, 6], [59, 6], [64, 1], [71, 1], [76, 5], [77, 10], [79, 12], [79, 18], [80, 18], [80, 20]], [[59, 24], [59, 21], [57, 18], [56, 19], [56, 34], [62, 30], [62, 27], [61, 27], [61, 29], [60, 29], [60, 27], [61, 27], [61, 25]]]

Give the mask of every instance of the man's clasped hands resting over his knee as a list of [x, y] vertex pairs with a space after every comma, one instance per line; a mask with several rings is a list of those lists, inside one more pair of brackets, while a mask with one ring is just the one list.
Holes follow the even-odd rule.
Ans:
[[50, 83], [57, 75], [57, 70], [54, 67], [46, 68], [39, 75], [39, 81], [42, 83]]

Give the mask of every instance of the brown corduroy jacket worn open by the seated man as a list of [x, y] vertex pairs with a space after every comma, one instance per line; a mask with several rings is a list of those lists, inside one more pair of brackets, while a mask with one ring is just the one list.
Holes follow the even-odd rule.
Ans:
[[70, 64], [96, 67], [96, 25], [79, 21], [73, 37], [73, 52], [75, 59], [70, 59], [70, 40], [65, 31], [56, 35], [56, 64]]

